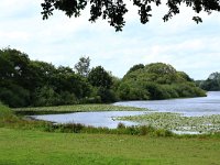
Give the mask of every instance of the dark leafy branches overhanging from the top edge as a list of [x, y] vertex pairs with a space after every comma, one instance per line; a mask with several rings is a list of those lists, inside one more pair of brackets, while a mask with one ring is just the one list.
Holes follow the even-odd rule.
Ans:
[[[96, 22], [99, 18], [108, 20], [109, 24], [116, 29], [116, 31], [122, 31], [125, 24], [124, 14], [128, 12], [128, 0], [44, 0], [41, 4], [43, 8], [43, 19], [48, 19], [53, 15], [54, 10], [61, 10], [65, 12], [67, 16], [80, 16], [82, 10], [87, 6], [90, 7], [90, 22]], [[130, 0], [131, 1], [131, 0]], [[132, 0], [133, 6], [139, 8], [139, 15], [141, 23], [145, 24], [152, 16], [152, 6], [157, 7], [162, 4], [162, 0]], [[179, 13], [179, 6], [186, 4], [191, 8], [197, 14], [201, 11], [210, 14], [212, 11], [220, 11], [219, 0], [167, 0], [166, 6], [168, 12], [163, 16], [164, 21], [168, 21], [173, 15]], [[202, 22], [198, 15], [193, 16], [193, 20], [197, 23]]]

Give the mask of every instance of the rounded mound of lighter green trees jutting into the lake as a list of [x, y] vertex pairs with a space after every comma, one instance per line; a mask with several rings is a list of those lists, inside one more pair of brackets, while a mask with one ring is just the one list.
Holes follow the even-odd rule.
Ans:
[[173, 66], [155, 63], [133, 69], [123, 77], [119, 96], [123, 100], [169, 99], [206, 96], [193, 79]]

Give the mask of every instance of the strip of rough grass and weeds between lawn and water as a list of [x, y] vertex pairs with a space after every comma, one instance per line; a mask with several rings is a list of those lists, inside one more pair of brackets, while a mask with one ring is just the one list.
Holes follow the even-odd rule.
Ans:
[[14, 112], [0, 103], [0, 128], [20, 129], [20, 130], [40, 130], [44, 132], [59, 133], [90, 133], [90, 134], [129, 134], [129, 135], [148, 135], [148, 136], [220, 136], [219, 132], [202, 135], [177, 135], [168, 129], [147, 125], [125, 127], [119, 123], [117, 129], [94, 128], [80, 123], [54, 124], [46, 121], [30, 120], [18, 117]]

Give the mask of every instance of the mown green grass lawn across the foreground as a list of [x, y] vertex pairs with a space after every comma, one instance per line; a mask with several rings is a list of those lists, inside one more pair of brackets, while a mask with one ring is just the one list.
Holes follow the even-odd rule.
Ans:
[[0, 165], [219, 165], [220, 139], [48, 133], [0, 128]]

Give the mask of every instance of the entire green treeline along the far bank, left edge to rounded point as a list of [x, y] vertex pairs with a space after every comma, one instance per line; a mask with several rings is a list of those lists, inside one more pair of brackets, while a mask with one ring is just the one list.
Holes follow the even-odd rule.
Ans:
[[122, 79], [89, 65], [89, 57], [81, 57], [75, 69], [55, 67], [18, 50], [0, 50], [0, 101], [38, 107], [205, 96], [187, 74], [170, 65], [135, 65]]

